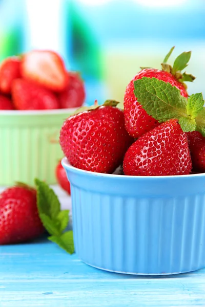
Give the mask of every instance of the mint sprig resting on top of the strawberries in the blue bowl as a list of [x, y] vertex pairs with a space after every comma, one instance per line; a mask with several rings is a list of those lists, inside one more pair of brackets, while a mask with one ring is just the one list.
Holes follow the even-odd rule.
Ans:
[[205, 108], [201, 93], [188, 99], [169, 82], [142, 77], [134, 81], [134, 94], [145, 111], [160, 123], [178, 119], [184, 132], [199, 131], [205, 137]]

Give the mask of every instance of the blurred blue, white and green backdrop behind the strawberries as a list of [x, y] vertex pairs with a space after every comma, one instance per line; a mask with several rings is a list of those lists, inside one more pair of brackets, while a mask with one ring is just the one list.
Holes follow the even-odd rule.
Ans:
[[86, 82], [86, 104], [123, 101], [140, 66], [160, 68], [192, 50], [189, 94], [205, 96], [204, 0], [0, 0], [0, 60], [35, 49], [59, 52]]

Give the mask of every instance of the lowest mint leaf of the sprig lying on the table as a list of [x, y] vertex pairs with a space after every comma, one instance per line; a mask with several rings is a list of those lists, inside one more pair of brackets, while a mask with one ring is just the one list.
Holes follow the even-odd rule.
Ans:
[[73, 232], [71, 230], [61, 234], [60, 236], [52, 235], [48, 237], [48, 239], [54, 243], [57, 243], [69, 254], [74, 253]]

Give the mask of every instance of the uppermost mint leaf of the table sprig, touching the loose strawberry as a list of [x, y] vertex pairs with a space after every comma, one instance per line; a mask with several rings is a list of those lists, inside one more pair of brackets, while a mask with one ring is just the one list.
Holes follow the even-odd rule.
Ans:
[[45, 213], [51, 220], [60, 212], [60, 203], [54, 191], [43, 181], [35, 179], [37, 189], [37, 207], [39, 213]]

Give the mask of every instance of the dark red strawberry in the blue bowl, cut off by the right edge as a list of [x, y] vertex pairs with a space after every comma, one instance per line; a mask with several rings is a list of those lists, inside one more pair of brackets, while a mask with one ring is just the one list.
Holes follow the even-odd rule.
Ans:
[[187, 133], [192, 164], [195, 170], [205, 171], [205, 138], [198, 131]]

